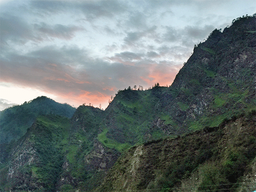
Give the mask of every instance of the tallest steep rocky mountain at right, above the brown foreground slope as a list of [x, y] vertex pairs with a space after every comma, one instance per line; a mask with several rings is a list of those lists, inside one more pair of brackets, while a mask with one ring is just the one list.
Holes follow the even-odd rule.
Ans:
[[173, 121], [169, 127], [218, 126], [255, 108], [255, 31], [255, 17], [239, 18], [195, 46], [159, 102]]

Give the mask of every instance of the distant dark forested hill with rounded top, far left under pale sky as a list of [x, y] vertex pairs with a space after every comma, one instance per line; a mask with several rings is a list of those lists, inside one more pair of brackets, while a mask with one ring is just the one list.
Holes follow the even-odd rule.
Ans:
[[71, 118], [76, 108], [61, 104], [45, 96], [37, 97], [22, 105], [0, 111], [0, 144], [9, 143], [22, 137], [32, 126], [37, 116], [58, 114]]

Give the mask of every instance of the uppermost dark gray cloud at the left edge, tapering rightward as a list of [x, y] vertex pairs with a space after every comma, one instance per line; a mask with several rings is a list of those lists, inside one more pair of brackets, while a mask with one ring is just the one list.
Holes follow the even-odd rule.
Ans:
[[49, 37], [70, 40], [74, 37], [76, 31], [85, 31], [83, 27], [74, 25], [64, 26], [56, 24], [48, 25], [44, 22], [40, 24], [29, 25], [24, 19], [1, 14], [1, 50], [10, 49], [9, 44], [25, 44], [28, 41], [42, 42], [49, 40]]

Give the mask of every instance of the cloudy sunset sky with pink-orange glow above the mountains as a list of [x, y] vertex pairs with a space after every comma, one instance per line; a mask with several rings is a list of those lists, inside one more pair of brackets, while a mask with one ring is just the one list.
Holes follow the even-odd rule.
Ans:
[[195, 44], [255, 0], [0, 1], [0, 110], [37, 96], [103, 109], [129, 86], [169, 86]]

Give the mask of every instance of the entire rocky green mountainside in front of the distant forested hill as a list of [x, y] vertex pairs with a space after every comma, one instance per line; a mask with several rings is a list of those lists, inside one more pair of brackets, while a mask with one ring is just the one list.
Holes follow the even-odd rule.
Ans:
[[170, 87], [119, 90], [105, 111], [82, 105], [70, 116], [56, 107], [35, 115], [22, 137], [1, 145], [0, 190], [253, 189], [255, 23], [255, 15], [241, 17], [214, 30]]

